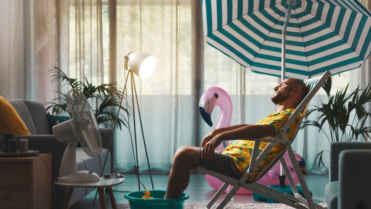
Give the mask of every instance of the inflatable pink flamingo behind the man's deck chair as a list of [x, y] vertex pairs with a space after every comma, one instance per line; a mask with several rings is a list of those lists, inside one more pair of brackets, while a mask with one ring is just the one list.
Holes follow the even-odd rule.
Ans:
[[[214, 129], [224, 128], [230, 126], [231, 119], [232, 119], [232, 100], [229, 97], [228, 93], [219, 87], [211, 87], [207, 89], [201, 96], [200, 99], [200, 113], [202, 118], [209, 126], [213, 126], [213, 122], [211, 121], [211, 113], [213, 112], [214, 107], [220, 106], [220, 117]], [[228, 142], [229, 143], [229, 142]], [[223, 141], [223, 144], [220, 144], [216, 150], [223, 151], [227, 147], [227, 141]], [[300, 155], [296, 154], [296, 158], [298, 161], [302, 161]], [[286, 164], [288, 165], [289, 169], [293, 168], [291, 161], [289, 160], [289, 156], [287, 153], [284, 155]], [[276, 164], [273, 168], [271, 168], [263, 177], [261, 177], [257, 183], [269, 185], [269, 184], [279, 184], [278, 175], [280, 173], [279, 164]], [[295, 171], [292, 169], [290, 174], [294, 180], [295, 184], [299, 183], [298, 177], [296, 176]], [[209, 183], [211, 187], [215, 190], [219, 190], [219, 188], [223, 185], [223, 181], [220, 181], [216, 177], [210, 176], [206, 174], [206, 181]], [[286, 184], [289, 184], [288, 180], [285, 180]], [[226, 191], [224, 191], [226, 192]], [[252, 193], [246, 189], [239, 189], [237, 194], [250, 194]]]

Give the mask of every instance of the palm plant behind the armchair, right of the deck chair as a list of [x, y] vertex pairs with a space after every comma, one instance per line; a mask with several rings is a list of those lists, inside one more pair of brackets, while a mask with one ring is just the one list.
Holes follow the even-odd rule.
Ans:
[[[305, 126], [315, 126], [318, 128], [318, 132], [324, 133], [329, 142], [358, 141], [361, 138], [370, 137], [371, 127], [367, 126], [366, 121], [370, 119], [371, 115], [370, 110], [366, 110], [364, 105], [371, 102], [371, 85], [368, 84], [363, 91], [358, 86], [354, 91], [347, 93], [348, 83], [346, 87], [336, 90], [335, 95], [331, 95], [331, 83], [331, 77], [329, 77], [322, 86], [328, 101], [321, 101], [321, 105], [313, 106], [305, 117], [308, 118], [315, 112], [319, 115], [313, 120], [305, 120], [301, 129]], [[329, 130], [324, 129], [325, 123], [328, 124]], [[318, 167], [321, 164], [326, 167], [323, 161], [325, 151], [322, 150], [316, 155], [315, 164], [318, 162]]]

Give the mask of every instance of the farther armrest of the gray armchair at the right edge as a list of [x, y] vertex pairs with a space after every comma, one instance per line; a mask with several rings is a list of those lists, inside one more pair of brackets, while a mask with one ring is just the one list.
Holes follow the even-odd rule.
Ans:
[[339, 180], [339, 154], [347, 149], [371, 149], [371, 142], [332, 142], [330, 148], [330, 182]]

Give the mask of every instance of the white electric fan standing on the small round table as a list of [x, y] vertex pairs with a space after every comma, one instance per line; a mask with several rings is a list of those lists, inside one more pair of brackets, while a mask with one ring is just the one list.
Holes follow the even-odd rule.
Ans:
[[58, 181], [61, 183], [86, 183], [99, 181], [99, 176], [91, 171], [76, 172], [76, 142], [90, 157], [102, 153], [102, 139], [93, 111], [84, 94], [71, 89], [66, 94], [69, 120], [53, 126], [53, 133], [59, 142], [69, 141], [62, 163]]

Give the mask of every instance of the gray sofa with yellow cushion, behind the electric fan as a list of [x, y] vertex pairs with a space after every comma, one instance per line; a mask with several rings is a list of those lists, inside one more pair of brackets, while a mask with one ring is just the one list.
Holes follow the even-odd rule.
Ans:
[[[59, 176], [60, 162], [62, 161], [63, 153], [68, 143], [60, 143], [55, 139], [54, 135], [51, 135], [46, 110], [42, 103], [20, 99], [9, 100], [9, 102], [16, 109], [31, 133], [31, 135], [18, 135], [14, 136], [14, 138], [28, 139], [29, 149], [37, 149], [40, 153], [52, 154], [52, 179], [50, 179], [50, 183], [53, 184], [55, 178]], [[81, 147], [76, 148], [76, 167], [78, 171], [88, 170], [100, 175], [105, 156], [109, 152], [103, 173], [113, 173], [114, 167], [113, 160], [111, 159], [113, 159], [114, 149], [113, 146], [109, 150], [107, 149], [112, 129], [102, 128], [100, 131], [103, 145], [102, 154], [99, 157], [89, 157]], [[68, 188], [55, 186], [54, 189], [55, 203], [53, 204], [53, 208], [61, 208]], [[70, 206], [92, 192], [92, 190], [91, 188], [76, 188], [73, 191]], [[52, 197], [54, 198], [54, 194]]]

